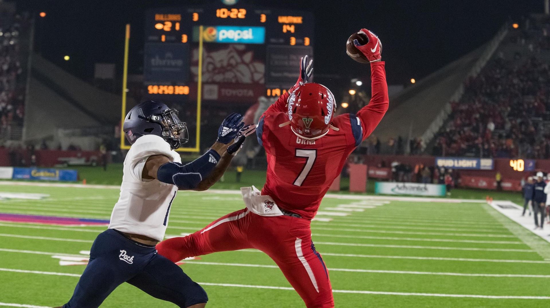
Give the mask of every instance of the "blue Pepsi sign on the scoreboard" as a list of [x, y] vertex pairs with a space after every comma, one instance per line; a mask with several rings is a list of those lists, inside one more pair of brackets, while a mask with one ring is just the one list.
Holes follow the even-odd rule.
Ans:
[[[207, 26], [201, 34], [206, 43], [263, 44], [266, 40], [265, 27]], [[193, 27], [193, 41], [199, 41], [199, 27]]]

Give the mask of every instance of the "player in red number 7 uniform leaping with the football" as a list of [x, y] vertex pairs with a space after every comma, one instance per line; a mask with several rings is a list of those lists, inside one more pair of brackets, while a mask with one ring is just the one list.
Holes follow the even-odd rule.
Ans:
[[186, 237], [164, 240], [158, 253], [177, 262], [217, 251], [256, 248], [269, 255], [307, 307], [334, 307], [331, 282], [311, 241], [311, 219], [348, 155], [378, 125], [388, 109], [381, 43], [362, 29], [368, 43], [355, 46], [371, 61], [372, 98], [356, 114], [334, 117], [328, 88], [307, 83], [311, 61], [300, 77], [262, 115], [256, 134], [266, 150], [267, 181], [261, 193], [241, 188], [246, 208]]

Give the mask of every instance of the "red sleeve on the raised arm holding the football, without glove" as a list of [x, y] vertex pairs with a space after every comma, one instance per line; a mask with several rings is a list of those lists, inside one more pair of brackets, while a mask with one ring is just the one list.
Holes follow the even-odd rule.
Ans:
[[363, 128], [363, 140], [371, 135], [388, 110], [389, 99], [385, 64], [383, 61], [371, 63], [372, 98], [368, 105], [361, 108], [356, 114]]

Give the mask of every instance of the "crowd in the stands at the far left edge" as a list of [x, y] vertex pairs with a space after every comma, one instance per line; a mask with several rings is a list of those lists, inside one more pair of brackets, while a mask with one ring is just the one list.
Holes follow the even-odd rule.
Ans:
[[[0, 17], [0, 143], [10, 138], [12, 127], [23, 125], [25, 84], [21, 66], [20, 34], [27, 18]], [[10, 20], [10, 22], [7, 22]]]

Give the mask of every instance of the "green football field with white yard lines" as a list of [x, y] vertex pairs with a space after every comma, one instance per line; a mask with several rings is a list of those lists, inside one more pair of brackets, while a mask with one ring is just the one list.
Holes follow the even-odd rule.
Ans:
[[[109, 219], [118, 189], [89, 187], [3, 184], [0, 213]], [[241, 208], [238, 191], [180, 192], [167, 236]], [[324, 198], [317, 217], [313, 242], [337, 307], [550, 307], [550, 243], [481, 200], [340, 194]], [[0, 221], [0, 306], [63, 305], [105, 228]], [[210, 307], [304, 307], [260, 251], [216, 253], [181, 266], [206, 289]], [[174, 305], [123, 284], [102, 307]]]

